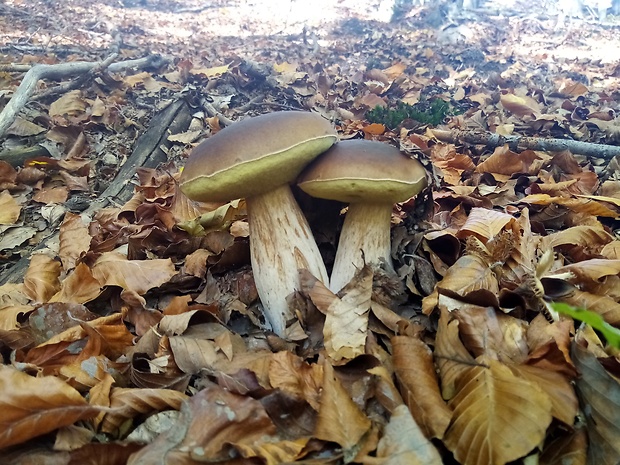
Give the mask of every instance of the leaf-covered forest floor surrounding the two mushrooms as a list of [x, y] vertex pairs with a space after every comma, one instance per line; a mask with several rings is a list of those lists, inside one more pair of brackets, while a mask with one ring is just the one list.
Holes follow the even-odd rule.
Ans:
[[[379, 3], [0, 4], [2, 463], [620, 462], [620, 18]], [[428, 187], [278, 336], [245, 203], [178, 178], [283, 110]]]

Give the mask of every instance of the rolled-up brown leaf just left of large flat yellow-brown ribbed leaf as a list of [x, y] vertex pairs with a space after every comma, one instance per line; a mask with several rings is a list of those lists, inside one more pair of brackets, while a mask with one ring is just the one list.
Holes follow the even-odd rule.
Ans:
[[415, 422], [428, 438], [443, 438], [452, 411], [439, 392], [433, 354], [415, 337], [392, 338], [394, 372]]

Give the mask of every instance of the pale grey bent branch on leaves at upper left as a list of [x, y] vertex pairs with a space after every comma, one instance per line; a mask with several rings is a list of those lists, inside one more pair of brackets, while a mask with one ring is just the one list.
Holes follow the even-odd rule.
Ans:
[[[161, 66], [166, 60], [160, 55], [149, 55], [137, 60], [127, 60], [112, 63], [108, 66], [108, 71], [112, 73], [124, 71], [129, 68], [144, 68], [147, 66]], [[34, 65], [24, 76], [15, 94], [7, 103], [2, 113], [0, 113], [0, 138], [6, 134], [7, 129], [13, 124], [20, 110], [28, 103], [34, 93], [37, 83], [41, 79], [64, 79], [70, 76], [90, 72], [95, 67], [101, 66], [103, 62], [74, 61], [69, 63], [59, 63], [56, 65]]]

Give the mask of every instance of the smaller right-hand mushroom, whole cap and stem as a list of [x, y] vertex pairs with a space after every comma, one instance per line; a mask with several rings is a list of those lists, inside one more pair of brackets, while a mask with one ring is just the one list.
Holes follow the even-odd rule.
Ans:
[[314, 160], [298, 185], [313, 197], [348, 202], [330, 289], [338, 292], [364, 263], [393, 271], [392, 207], [426, 187], [426, 171], [397, 148], [367, 140], [341, 141]]

